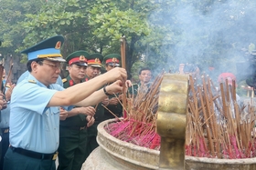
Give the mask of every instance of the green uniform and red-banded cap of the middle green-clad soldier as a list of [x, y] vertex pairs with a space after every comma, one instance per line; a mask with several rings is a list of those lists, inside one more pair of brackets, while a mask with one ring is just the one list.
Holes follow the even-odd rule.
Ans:
[[[87, 58], [88, 65], [92, 67], [99, 67], [101, 68], [101, 62], [103, 59], [103, 56], [101, 54], [92, 54]], [[85, 81], [89, 81], [91, 78], [86, 75]], [[97, 126], [102, 122], [103, 116], [104, 116], [104, 107], [102, 106], [102, 103], [99, 103], [98, 105], [93, 105], [94, 108], [96, 108], [96, 113], [94, 115], [95, 122], [93, 125], [88, 127], [87, 129], [87, 144], [86, 144], [86, 154], [85, 157], [87, 158], [91, 152], [98, 147], [98, 143], [96, 140], [96, 136], [98, 134]]]

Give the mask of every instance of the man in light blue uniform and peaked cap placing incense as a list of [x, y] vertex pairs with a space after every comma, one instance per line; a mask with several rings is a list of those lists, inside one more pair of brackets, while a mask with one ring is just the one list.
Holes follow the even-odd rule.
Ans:
[[63, 42], [64, 37], [57, 35], [22, 51], [27, 54], [30, 74], [16, 85], [12, 94], [10, 147], [5, 154], [5, 170], [55, 170], [59, 106], [69, 111], [73, 106], [68, 105], [95, 105], [108, 94], [123, 90], [127, 74], [122, 68], [67, 89], [57, 85], [60, 64], [65, 62], [60, 54]]

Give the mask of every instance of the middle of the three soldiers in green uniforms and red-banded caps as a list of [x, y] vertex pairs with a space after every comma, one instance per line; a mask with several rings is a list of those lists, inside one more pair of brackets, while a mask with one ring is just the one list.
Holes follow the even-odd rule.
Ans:
[[[99, 53], [95, 53], [90, 55], [87, 58], [88, 67], [86, 69], [85, 81], [89, 81], [95, 76], [99, 75], [101, 72], [101, 62], [103, 60], [103, 56]], [[98, 147], [98, 143], [96, 141], [97, 136], [97, 126], [102, 122], [104, 116], [104, 107], [102, 105], [108, 104], [109, 98], [106, 97], [98, 105], [93, 105], [96, 109], [96, 113], [94, 115], [95, 122], [87, 129], [87, 144], [86, 144], [86, 154], [85, 157], [87, 158], [91, 152]]]

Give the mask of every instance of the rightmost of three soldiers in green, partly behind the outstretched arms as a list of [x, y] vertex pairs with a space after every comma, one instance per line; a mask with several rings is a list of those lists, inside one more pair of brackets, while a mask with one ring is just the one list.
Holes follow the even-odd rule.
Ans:
[[[112, 70], [112, 68], [120, 66], [121, 62], [121, 56], [118, 54], [111, 54], [106, 55], [103, 58], [103, 62], [105, 63], [105, 69], [106, 71]], [[107, 108], [116, 116], [121, 117], [123, 116], [123, 106], [120, 104], [119, 101], [122, 100], [122, 95], [116, 94], [109, 96], [109, 105], [107, 105]], [[104, 120], [114, 118], [114, 115], [111, 114], [111, 112], [105, 109], [104, 111]]]

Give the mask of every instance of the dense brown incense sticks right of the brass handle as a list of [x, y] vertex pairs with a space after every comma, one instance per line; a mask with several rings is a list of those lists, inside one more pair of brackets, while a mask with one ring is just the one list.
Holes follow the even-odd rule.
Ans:
[[186, 155], [239, 159], [255, 157], [254, 107], [241, 105], [228, 79], [219, 90], [208, 76], [189, 76]]

